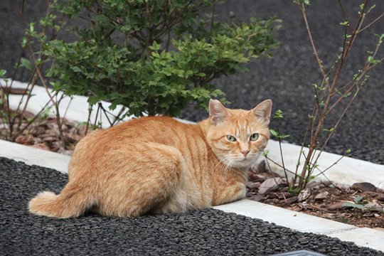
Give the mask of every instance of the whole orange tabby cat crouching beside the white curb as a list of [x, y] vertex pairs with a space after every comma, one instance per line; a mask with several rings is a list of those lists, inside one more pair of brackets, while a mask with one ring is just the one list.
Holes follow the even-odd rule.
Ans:
[[270, 138], [271, 109], [271, 100], [250, 111], [210, 100], [210, 117], [198, 124], [141, 117], [92, 132], [76, 146], [63, 191], [39, 193], [29, 210], [55, 218], [87, 210], [133, 217], [244, 198], [246, 171]]

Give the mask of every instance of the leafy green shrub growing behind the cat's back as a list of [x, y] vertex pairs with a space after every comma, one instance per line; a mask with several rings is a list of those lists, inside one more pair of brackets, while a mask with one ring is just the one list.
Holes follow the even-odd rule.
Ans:
[[[224, 94], [212, 80], [246, 70], [269, 55], [276, 19], [214, 21], [215, 1], [103, 0], [53, 2], [58, 15], [82, 18], [76, 40], [43, 45], [53, 61], [46, 75], [55, 90], [129, 108], [127, 114], [177, 115], [189, 102], [206, 107]], [[211, 10], [208, 14], [207, 10]], [[41, 25], [54, 29], [56, 16]]]

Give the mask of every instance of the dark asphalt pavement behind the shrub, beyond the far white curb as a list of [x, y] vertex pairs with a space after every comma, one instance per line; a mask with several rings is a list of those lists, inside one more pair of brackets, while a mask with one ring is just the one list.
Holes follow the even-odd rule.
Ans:
[[[11, 2], [0, 1], [0, 68], [14, 70], [21, 46], [22, 29], [18, 15]], [[15, 1], [21, 4], [22, 1]], [[353, 21], [356, 20], [361, 0], [341, 1], [346, 14]], [[371, 0], [376, 8], [367, 18], [368, 24], [384, 11], [382, 0]], [[27, 21], [38, 21], [44, 13], [45, 1], [26, 1], [25, 12]], [[258, 59], [252, 61], [247, 68], [249, 72], [220, 78], [215, 83], [233, 102], [232, 107], [249, 109], [257, 102], [271, 98], [274, 110], [284, 112], [284, 121], [281, 130], [284, 134], [291, 134], [287, 140], [300, 144], [302, 134], [306, 129], [307, 114], [309, 114], [314, 92], [311, 84], [321, 82], [319, 68], [312, 55], [309, 39], [304, 27], [298, 6], [292, 0], [225, 0], [216, 8], [218, 19], [228, 18], [230, 11], [238, 18], [247, 21], [252, 16], [268, 18], [277, 16], [283, 20], [278, 39], [281, 46], [276, 50], [274, 58]], [[312, 0], [309, 9], [309, 23], [312, 28], [314, 41], [324, 60], [326, 68], [331, 66], [342, 46], [343, 28], [339, 23], [343, 21], [338, 1]], [[372, 50], [377, 38], [375, 33], [384, 33], [384, 19], [375, 23], [359, 35], [353, 46], [341, 80], [352, 78], [353, 74], [361, 69], [361, 63], [366, 58], [366, 50]], [[383, 50], [380, 53], [383, 56]], [[334, 139], [331, 139], [327, 151], [343, 154], [351, 149], [351, 156], [384, 164], [384, 65], [370, 73], [370, 82], [363, 88], [346, 118], [341, 122]], [[26, 73], [19, 73], [18, 80], [28, 80]], [[337, 110], [331, 115], [329, 124], [332, 127], [336, 121]], [[206, 112], [193, 110], [189, 107], [182, 114], [183, 118], [198, 121], [206, 117]], [[277, 127], [272, 122], [272, 127]]]

